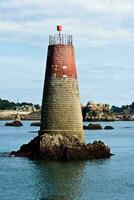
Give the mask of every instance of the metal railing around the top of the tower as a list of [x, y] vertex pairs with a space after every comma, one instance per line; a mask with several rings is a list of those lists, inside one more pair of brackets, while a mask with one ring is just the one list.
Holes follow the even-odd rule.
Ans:
[[56, 35], [50, 35], [49, 36], [49, 45], [55, 45], [55, 44], [73, 44], [73, 37], [72, 35], [67, 34], [56, 34]]

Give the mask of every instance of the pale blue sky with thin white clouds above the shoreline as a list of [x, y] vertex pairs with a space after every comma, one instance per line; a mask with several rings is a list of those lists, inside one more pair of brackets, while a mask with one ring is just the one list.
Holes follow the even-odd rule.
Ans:
[[74, 38], [82, 104], [134, 101], [134, 0], [0, 0], [0, 98], [41, 104], [57, 24]]

